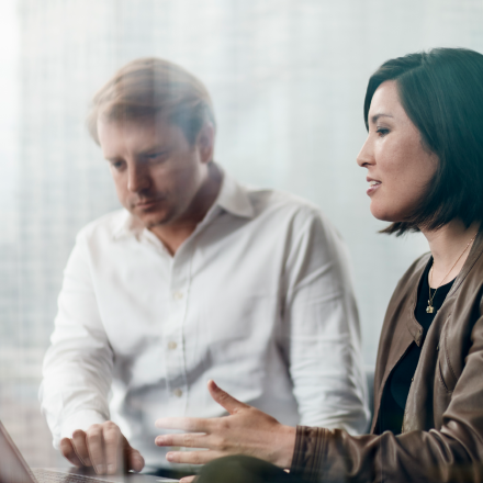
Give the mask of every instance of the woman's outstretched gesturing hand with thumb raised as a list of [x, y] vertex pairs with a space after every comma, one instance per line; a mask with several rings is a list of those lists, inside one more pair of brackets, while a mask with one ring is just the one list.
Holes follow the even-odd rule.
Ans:
[[[166, 459], [171, 463], [204, 464], [229, 454], [246, 454], [289, 468], [295, 447], [295, 428], [283, 426], [277, 419], [240, 403], [214, 381], [207, 389], [216, 403], [229, 416], [211, 419], [193, 417], [164, 417], [156, 422], [158, 428], [182, 429], [181, 435], [161, 435], [157, 446], [204, 448], [201, 451], [170, 451]], [[206, 451], [207, 450], [207, 451]]]

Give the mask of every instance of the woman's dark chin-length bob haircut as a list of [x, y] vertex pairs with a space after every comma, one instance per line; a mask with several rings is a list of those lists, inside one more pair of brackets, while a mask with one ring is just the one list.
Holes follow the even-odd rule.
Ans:
[[395, 80], [401, 103], [423, 145], [439, 158], [424, 200], [382, 233], [437, 229], [454, 218], [483, 220], [483, 55], [435, 48], [385, 61], [369, 79], [364, 121], [378, 87]]

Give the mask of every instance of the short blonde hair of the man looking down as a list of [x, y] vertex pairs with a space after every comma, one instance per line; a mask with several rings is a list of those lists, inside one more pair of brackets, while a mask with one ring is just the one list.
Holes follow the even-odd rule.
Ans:
[[98, 120], [166, 119], [193, 144], [206, 122], [215, 127], [213, 104], [203, 83], [182, 67], [160, 58], [126, 64], [93, 97], [87, 119], [99, 144]]

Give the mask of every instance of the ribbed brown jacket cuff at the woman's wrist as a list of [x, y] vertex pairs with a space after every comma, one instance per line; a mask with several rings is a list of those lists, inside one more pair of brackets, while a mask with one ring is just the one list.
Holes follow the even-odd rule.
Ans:
[[307, 482], [318, 481], [325, 460], [327, 429], [297, 426], [290, 473]]

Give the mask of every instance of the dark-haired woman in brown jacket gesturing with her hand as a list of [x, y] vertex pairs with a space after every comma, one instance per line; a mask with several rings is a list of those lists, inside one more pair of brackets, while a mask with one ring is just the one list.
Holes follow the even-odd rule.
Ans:
[[[282, 426], [209, 390], [231, 415], [160, 419], [159, 446], [200, 481], [483, 481], [483, 56], [440, 48], [384, 63], [366, 94], [371, 212], [430, 252], [401, 279], [381, 333], [371, 434]], [[260, 461], [263, 460], [263, 461]], [[269, 464], [272, 463], [272, 464]], [[290, 468], [290, 475], [280, 470]]]

